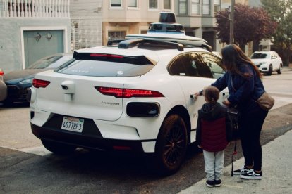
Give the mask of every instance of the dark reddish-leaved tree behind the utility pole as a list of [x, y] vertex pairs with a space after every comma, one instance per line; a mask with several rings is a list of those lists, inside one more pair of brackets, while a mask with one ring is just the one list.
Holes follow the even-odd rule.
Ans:
[[[215, 15], [217, 37], [229, 44], [229, 9]], [[269, 39], [274, 33], [276, 22], [273, 22], [263, 8], [251, 8], [243, 4], [234, 6], [234, 43], [244, 48], [250, 41], [260, 42]]]

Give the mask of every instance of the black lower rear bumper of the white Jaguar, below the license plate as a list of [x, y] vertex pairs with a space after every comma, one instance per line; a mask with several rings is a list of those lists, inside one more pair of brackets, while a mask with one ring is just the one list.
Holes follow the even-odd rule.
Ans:
[[[109, 138], [102, 138], [97, 135], [79, 134], [71, 131], [64, 131], [62, 129], [50, 129], [49, 127], [38, 127], [35, 124], [30, 124], [32, 133], [39, 139], [46, 139], [49, 141], [57, 141], [69, 145], [75, 145], [79, 148], [87, 148], [93, 150], [130, 150], [137, 153], [144, 153], [142, 148], [143, 141], [130, 140], [116, 140]], [[153, 140], [152, 140], [153, 141]]]

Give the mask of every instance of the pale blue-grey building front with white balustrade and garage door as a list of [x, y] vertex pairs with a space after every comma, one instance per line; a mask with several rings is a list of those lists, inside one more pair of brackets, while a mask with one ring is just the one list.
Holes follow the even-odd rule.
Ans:
[[0, 0], [0, 67], [21, 70], [70, 48], [69, 0]]

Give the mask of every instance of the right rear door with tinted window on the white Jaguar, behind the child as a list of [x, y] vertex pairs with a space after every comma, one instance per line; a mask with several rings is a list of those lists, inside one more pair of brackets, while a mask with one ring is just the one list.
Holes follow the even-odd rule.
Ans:
[[[212, 65], [209, 66], [209, 62]], [[195, 131], [197, 127], [197, 112], [205, 103], [204, 96], [197, 99], [191, 98], [197, 91], [201, 91], [205, 86], [214, 83], [215, 79], [223, 75], [224, 70], [221, 68], [221, 60], [209, 53], [184, 53], [178, 56], [173, 63], [169, 65], [169, 72], [174, 75], [181, 85], [185, 95], [185, 104], [188, 109], [191, 121], [191, 129]], [[221, 72], [221, 73], [220, 73]], [[227, 97], [226, 91], [221, 92], [219, 102]], [[191, 141], [195, 141], [195, 135], [191, 135]]]

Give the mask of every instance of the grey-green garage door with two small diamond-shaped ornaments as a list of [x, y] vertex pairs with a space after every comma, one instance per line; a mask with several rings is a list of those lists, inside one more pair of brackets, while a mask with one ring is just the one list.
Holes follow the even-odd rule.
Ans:
[[63, 30], [33, 30], [23, 32], [25, 68], [39, 58], [64, 52]]

